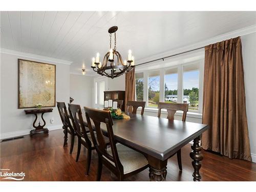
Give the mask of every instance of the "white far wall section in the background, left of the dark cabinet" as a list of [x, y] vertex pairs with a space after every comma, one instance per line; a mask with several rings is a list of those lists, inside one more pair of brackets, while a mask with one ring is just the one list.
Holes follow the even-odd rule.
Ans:
[[70, 96], [74, 99], [72, 104], [92, 107], [93, 77], [70, 74]]

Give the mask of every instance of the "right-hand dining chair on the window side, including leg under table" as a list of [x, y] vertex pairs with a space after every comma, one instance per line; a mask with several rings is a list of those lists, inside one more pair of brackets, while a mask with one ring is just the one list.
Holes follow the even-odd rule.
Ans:
[[[174, 120], [174, 114], [178, 110], [179, 111], [183, 111], [182, 121], [186, 121], [186, 115], [187, 115], [187, 111], [188, 111], [188, 104], [186, 104], [186, 103], [165, 103], [165, 102], [159, 102], [158, 103], [158, 115], [157, 115], [159, 118], [161, 116], [161, 110], [162, 109], [166, 109], [167, 110], [167, 119], [170, 119], [170, 120]], [[179, 169], [182, 170], [181, 150], [177, 151], [176, 153], [177, 153]], [[175, 154], [173, 154], [172, 156], [174, 156]]]

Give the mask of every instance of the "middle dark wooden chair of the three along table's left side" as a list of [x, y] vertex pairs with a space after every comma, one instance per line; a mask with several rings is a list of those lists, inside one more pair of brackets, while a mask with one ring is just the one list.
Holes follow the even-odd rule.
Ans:
[[[84, 124], [82, 118], [82, 111], [79, 104], [69, 104], [69, 113], [73, 123], [74, 130], [76, 132], [78, 138], [77, 145], [77, 155], [76, 162], [79, 159], [81, 145], [87, 148], [87, 164], [86, 164], [86, 176], [89, 174], [91, 158], [92, 158], [92, 150], [95, 150], [95, 145], [92, 142], [92, 137], [90, 132], [88, 133], [86, 130], [86, 125]], [[95, 133], [96, 134], [96, 133]], [[106, 143], [109, 143], [109, 139], [107, 137], [103, 137]]]

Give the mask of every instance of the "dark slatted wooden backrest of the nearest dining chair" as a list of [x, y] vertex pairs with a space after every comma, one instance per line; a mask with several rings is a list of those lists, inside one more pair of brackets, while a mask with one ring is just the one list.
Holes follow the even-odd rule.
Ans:
[[[122, 169], [123, 171], [123, 166], [119, 160], [118, 153], [117, 153], [117, 148], [116, 148], [116, 142], [114, 139], [114, 133], [113, 133], [113, 120], [110, 114], [110, 111], [103, 111], [103, 110], [96, 110], [96, 109], [90, 109], [84, 106], [84, 111], [86, 112], [86, 119], [88, 122], [88, 127], [92, 136], [93, 144], [96, 148], [97, 153], [99, 154], [100, 157], [104, 156], [105, 158], [109, 159], [115, 164], [115, 167], [118, 168], [119, 170]], [[92, 121], [95, 126], [95, 131], [97, 138], [93, 134], [93, 127], [92, 127]], [[106, 130], [108, 131], [108, 137], [110, 141], [110, 146], [111, 146], [111, 151], [112, 155], [110, 155], [106, 151], [106, 143], [103, 138], [103, 134], [101, 131], [101, 124], [104, 123], [106, 126]], [[110, 165], [112, 165], [110, 163]], [[112, 165], [113, 166], [113, 165]]]

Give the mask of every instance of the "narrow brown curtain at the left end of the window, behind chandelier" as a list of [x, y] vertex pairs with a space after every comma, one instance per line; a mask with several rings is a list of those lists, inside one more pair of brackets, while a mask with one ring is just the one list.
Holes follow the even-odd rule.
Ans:
[[[127, 110], [127, 101], [135, 100], [135, 70], [131, 70], [128, 73], [125, 73], [125, 111]], [[132, 109], [129, 108], [129, 112], [132, 112]]]

